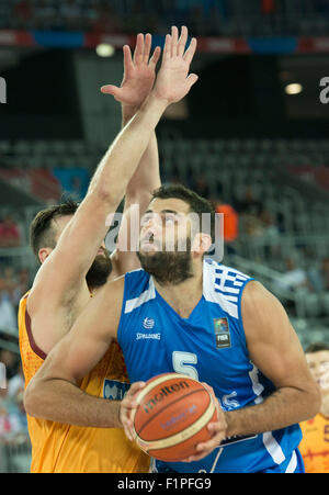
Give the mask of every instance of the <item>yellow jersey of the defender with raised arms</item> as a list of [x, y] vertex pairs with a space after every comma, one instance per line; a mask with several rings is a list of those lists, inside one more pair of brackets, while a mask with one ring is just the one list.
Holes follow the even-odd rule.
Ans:
[[[19, 310], [25, 386], [46, 358], [33, 339], [27, 295], [22, 297]], [[99, 364], [84, 376], [80, 389], [98, 397], [121, 400], [127, 383], [122, 350], [112, 342]], [[121, 428], [82, 428], [29, 415], [27, 424], [33, 473], [145, 473], [149, 470], [149, 457]]]

